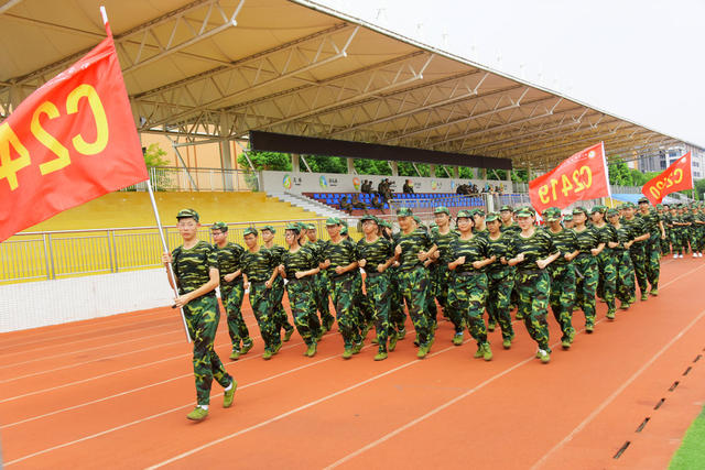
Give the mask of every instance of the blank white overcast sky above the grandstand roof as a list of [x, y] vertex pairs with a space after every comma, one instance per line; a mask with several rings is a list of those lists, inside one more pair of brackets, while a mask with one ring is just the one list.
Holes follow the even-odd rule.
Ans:
[[314, 0], [705, 147], [705, 0]]

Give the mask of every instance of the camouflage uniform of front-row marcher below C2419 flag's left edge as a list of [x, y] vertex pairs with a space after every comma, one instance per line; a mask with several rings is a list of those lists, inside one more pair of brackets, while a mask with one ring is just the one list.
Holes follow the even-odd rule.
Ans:
[[551, 352], [546, 321], [551, 280], [547, 271], [539, 269], [536, 260], [545, 259], [556, 250], [544, 230], [534, 230], [531, 237], [524, 238], [519, 233], [512, 238], [509, 251], [512, 258], [524, 253], [524, 260], [517, 264], [514, 284], [519, 293], [519, 313], [522, 314], [527, 330], [539, 348]]

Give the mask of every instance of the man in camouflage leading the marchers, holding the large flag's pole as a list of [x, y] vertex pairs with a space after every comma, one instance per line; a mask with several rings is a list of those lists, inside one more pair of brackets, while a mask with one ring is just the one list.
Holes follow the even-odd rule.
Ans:
[[194, 340], [194, 376], [196, 379], [196, 407], [186, 415], [192, 420], [204, 420], [208, 416], [210, 385], [215, 379], [224, 389], [223, 407], [232, 406], [237, 382], [225, 370], [220, 358], [213, 348], [220, 319], [215, 288], [220, 283], [218, 255], [213, 247], [198, 240], [200, 222], [194, 209], [182, 209], [176, 215], [178, 234], [184, 243], [174, 251], [164, 252], [162, 262], [174, 270], [174, 280], [169, 276], [172, 287], [178, 288], [174, 299], [176, 307], [183, 308], [188, 325], [188, 334]]

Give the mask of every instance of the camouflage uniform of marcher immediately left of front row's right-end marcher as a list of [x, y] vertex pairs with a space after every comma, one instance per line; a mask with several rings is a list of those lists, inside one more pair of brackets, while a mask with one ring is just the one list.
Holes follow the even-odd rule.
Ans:
[[507, 260], [511, 258], [509, 247], [514, 237], [512, 233], [516, 232], [500, 232], [496, 240], [492, 240], [491, 236], [487, 238], [487, 254], [497, 258], [487, 266], [487, 314], [491, 323], [499, 324], [503, 340], [511, 340], [514, 337], [509, 304], [514, 288], [516, 270], [500, 262], [502, 256]]

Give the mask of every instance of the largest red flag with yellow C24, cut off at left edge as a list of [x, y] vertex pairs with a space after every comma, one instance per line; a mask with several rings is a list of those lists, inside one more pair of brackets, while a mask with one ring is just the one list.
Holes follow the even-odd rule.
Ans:
[[0, 124], [0, 241], [148, 179], [112, 35]]

